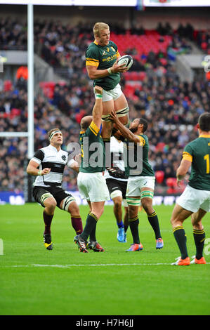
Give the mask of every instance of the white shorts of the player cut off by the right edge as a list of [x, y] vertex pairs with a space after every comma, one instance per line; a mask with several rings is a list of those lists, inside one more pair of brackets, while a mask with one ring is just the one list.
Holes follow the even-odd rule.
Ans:
[[197, 212], [202, 209], [206, 212], [210, 211], [210, 191], [209, 190], [199, 190], [187, 185], [185, 190], [178, 197], [176, 203], [191, 212]]

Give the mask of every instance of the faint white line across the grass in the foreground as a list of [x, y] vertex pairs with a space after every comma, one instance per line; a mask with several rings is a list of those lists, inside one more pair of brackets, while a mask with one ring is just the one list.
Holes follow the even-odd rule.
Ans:
[[[54, 267], [54, 268], [71, 268], [71, 267], [104, 267], [104, 266], [158, 266], [158, 265], [171, 265], [171, 263], [100, 263], [100, 264], [72, 264], [72, 265], [41, 265], [32, 263], [31, 265], [11, 265], [11, 266], [0, 266], [0, 268], [27, 268], [27, 267]], [[210, 263], [206, 263], [210, 265]]]

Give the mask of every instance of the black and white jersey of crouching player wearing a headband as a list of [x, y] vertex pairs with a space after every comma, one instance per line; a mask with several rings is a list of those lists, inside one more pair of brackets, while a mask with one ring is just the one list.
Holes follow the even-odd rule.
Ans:
[[65, 165], [70, 166], [68, 161], [68, 152], [60, 149], [59, 151], [52, 145], [44, 147], [35, 152], [33, 161], [39, 164], [39, 169], [51, 169], [45, 176], [37, 176], [34, 186], [50, 187], [52, 184], [61, 185]]

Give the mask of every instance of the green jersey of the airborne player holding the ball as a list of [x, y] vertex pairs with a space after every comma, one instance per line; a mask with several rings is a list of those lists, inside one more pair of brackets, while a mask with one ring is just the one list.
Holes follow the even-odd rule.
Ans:
[[[112, 67], [117, 58], [119, 58], [117, 45], [113, 41], [109, 41], [107, 46], [100, 46], [96, 41], [92, 42], [86, 50], [86, 66], [93, 65], [98, 70], [105, 70]], [[110, 91], [119, 84], [120, 74], [113, 73], [107, 77], [95, 79], [93, 86], [100, 86], [105, 91]]]

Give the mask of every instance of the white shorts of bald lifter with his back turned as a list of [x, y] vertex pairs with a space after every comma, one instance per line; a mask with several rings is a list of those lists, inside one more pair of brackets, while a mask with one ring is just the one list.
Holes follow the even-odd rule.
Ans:
[[103, 202], [110, 200], [110, 192], [106, 185], [102, 172], [84, 173], [79, 172], [77, 185], [82, 199], [90, 202]]

